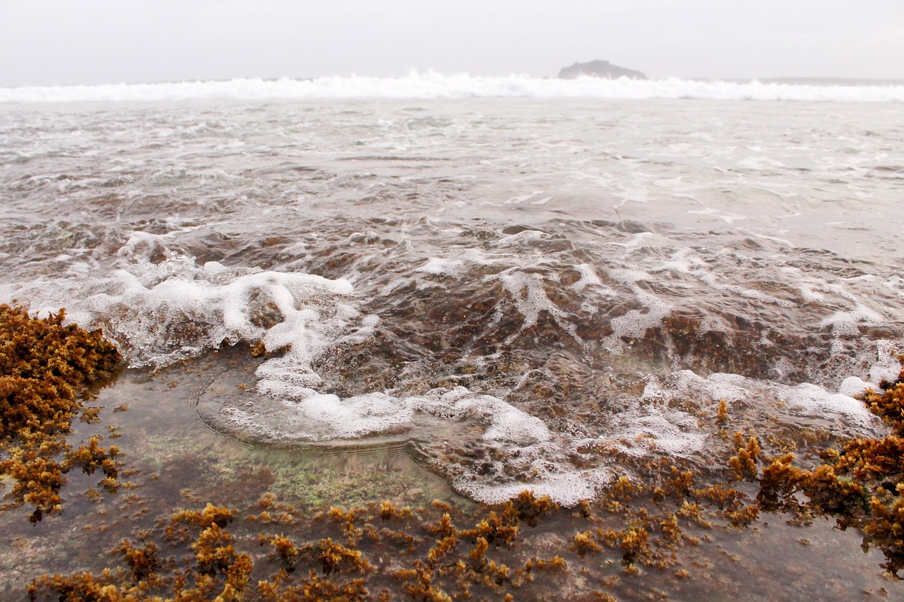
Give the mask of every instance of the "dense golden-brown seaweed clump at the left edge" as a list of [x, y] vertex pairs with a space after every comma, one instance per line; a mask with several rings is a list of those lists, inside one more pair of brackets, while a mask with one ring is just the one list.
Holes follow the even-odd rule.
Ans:
[[72, 466], [100, 468], [115, 480], [118, 449], [66, 444], [79, 395], [108, 379], [120, 360], [100, 331], [63, 325], [64, 310], [34, 318], [0, 305], [0, 475], [14, 479], [8, 497], [33, 504], [32, 521], [61, 509], [60, 489]]

